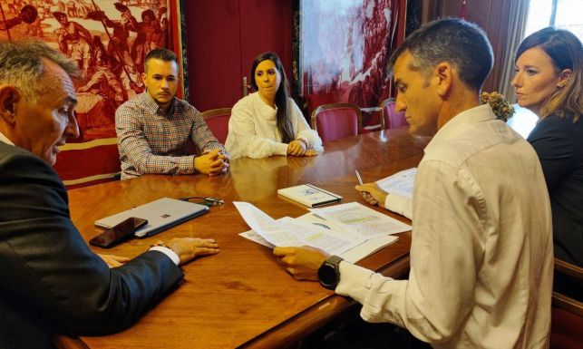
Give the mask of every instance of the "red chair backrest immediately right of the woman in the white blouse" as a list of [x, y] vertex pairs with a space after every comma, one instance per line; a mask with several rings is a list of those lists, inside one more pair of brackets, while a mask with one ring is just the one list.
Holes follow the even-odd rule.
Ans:
[[361, 133], [363, 115], [354, 104], [325, 104], [312, 112], [311, 122], [322, 141], [333, 141]]

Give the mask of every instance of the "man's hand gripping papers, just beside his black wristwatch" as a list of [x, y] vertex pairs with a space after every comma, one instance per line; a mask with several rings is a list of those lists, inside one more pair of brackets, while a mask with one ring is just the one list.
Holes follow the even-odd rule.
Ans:
[[273, 255], [296, 280], [318, 281], [318, 268], [330, 255], [315, 247], [276, 247]]

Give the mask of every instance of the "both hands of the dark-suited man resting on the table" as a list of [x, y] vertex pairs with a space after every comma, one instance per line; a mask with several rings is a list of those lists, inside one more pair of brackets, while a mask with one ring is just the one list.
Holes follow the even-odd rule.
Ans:
[[[179, 266], [189, 263], [196, 257], [216, 255], [219, 253], [219, 244], [212, 238], [172, 238], [166, 244], [158, 241], [154, 245], [169, 247], [174, 251], [180, 259]], [[128, 257], [114, 255], [97, 254], [97, 256], [102, 257], [107, 266], [111, 268], [121, 267], [131, 260]]]

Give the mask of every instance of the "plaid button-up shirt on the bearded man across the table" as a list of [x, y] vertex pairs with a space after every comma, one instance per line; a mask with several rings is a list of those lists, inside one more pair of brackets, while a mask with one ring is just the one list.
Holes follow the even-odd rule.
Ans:
[[174, 98], [164, 113], [148, 92], [123, 103], [115, 111], [115, 131], [121, 160], [121, 179], [146, 173], [192, 174], [197, 150], [221, 149], [207, 123], [189, 102]]

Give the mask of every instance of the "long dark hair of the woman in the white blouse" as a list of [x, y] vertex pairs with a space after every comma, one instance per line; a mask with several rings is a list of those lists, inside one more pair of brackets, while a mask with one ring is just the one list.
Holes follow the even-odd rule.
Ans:
[[277, 106], [277, 130], [281, 135], [281, 141], [289, 143], [294, 141], [294, 128], [291, 123], [291, 105], [289, 105], [289, 86], [287, 85], [286, 71], [279, 60], [276, 53], [261, 53], [257, 56], [253, 65], [251, 66], [251, 86], [258, 91], [257, 82], [255, 82], [255, 71], [257, 65], [263, 61], [270, 60], [276, 64], [277, 72], [281, 76], [281, 82], [276, 92], [276, 106]]

